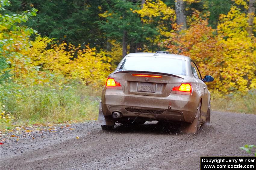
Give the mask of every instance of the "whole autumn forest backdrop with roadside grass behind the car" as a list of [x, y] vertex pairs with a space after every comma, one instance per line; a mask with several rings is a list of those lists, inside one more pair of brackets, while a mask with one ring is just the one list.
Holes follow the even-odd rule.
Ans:
[[213, 76], [207, 85], [216, 109], [255, 114], [255, 6], [255, 0], [1, 0], [1, 128], [96, 119], [101, 88], [120, 60], [156, 50], [189, 56], [202, 76]]

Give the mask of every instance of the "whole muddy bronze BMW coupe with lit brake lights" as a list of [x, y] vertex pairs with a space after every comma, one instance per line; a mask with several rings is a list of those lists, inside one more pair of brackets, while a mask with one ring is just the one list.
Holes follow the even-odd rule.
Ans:
[[112, 129], [115, 122], [183, 122], [182, 131], [196, 133], [210, 122], [210, 93], [191, 58], [182, 55], [130, 53], [108, 76], [102, 90], [98, 124]]

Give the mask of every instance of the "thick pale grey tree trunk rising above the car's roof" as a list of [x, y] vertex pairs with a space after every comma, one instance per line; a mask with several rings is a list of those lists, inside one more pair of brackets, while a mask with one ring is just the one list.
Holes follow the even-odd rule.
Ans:
[[180, 30], [187, 28], [186, 15], [185, 15], [185, 2], [183, 0], [175, 1], [175, 13], [177, 24], [180, 25]]

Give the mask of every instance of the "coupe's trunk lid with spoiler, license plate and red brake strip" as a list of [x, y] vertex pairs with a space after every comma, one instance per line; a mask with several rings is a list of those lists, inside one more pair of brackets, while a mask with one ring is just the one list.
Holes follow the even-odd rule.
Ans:
[[126, 94], [168, 96], [174, 86], [179, 86], [185, 76], [144, 71], [115, 72], [114, 79], [122, 82]]

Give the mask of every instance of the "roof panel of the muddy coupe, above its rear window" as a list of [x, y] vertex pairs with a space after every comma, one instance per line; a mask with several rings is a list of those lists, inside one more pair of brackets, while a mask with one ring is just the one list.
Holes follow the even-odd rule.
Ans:
[[180, 60], [189, 59], [189, 57], [184, 56], [184, 55], [157, 53], [158, 56], [155, 56], [154, 54], [156, 54], [156, 53], [154, 53], [154, 52], [135, 52], [135, 53], [127, 54], [126, 57], [144, 56], [144, 57], [166, 57], [166, 58], [175, 58], [175, 59], [180, 59]]

